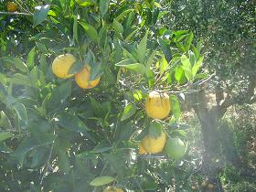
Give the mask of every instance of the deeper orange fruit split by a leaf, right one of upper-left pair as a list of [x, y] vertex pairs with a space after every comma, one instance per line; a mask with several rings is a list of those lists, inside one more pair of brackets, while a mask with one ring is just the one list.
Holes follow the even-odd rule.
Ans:
[[90, 75], [91, 68], [89, 65], [86, 65], [83, 69], [80, 70], [80, 72], [75, 75], [75, 80], [80, 88], [91, 89], [99, 84], [101, 79], [97, 78], [96, 80], [90, 80]]

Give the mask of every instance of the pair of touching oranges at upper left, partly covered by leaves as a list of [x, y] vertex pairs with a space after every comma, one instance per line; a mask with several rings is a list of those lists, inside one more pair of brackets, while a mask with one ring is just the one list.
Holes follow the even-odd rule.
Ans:
[[75, 62], [76, 59], [71, 54], [59, 55], [52, 62], [52, 72], [60, 79], [68, 79], [75, 76], [76, 83], [82, 89], [91, 89], [97, 86], [101, 78], [90, 80], [91, 67], [89, 65], [85, 65], [78, 73], [69, 73]]

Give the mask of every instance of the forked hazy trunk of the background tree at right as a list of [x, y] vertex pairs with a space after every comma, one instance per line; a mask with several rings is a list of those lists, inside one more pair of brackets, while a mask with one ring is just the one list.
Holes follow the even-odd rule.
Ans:
[[205, 147], [204, 167], [211, 174], [219, 173], [226, 160], [233, 165], [240, 165], [240, 157], [234, 146], [233, 134], [229, 131], [229, 124], [221, 123], [220, 120], [227, 111], [219, 105], [208, 109], [208, 101], [205, 91], [199, 91], [194, 98], [194, 110], [197, 113]]

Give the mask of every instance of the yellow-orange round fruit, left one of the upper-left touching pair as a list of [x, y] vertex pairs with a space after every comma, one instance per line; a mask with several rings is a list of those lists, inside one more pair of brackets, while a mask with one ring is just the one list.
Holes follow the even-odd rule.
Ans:
[[74, 74], [69, 74], [69, 69], [75, 63], [76, 59], [71, 54], [59, 55], [52, 62], [52, 72], [58, 78], [67, 79], [72, 77]]

